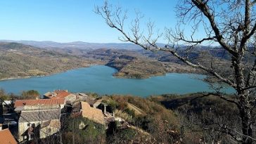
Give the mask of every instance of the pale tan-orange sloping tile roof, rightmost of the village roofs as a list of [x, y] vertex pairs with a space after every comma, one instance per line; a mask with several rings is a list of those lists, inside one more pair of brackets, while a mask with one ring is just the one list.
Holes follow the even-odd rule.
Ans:
[[98, 124], [105, 124], [104, 114], [101, 110], [91, 107], [87, 102], [81, 102], [82, 116]]

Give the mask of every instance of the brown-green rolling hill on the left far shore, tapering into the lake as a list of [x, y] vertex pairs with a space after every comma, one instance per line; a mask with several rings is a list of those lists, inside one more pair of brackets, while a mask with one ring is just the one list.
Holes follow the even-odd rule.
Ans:
[[74, 55], [13, 42], [0, 42], [0, 79], [44, 76], [87, 67], [90, 63], [90, 60]]

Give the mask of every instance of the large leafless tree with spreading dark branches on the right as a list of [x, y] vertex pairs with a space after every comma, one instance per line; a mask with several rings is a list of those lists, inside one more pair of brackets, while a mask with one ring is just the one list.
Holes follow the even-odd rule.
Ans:
[[[130, 29], [127, 30], [125, 21], [127, 13], [122, 8], [113, 8], [105, 2], [101, 7], [96, 7], [96, 13], [101, 15], [106, 24], [122, 33], [121, 41], [129, 41], [150, 51], [166, 51], [179, 58], [182, 62], [203, 70], [208, 75], [219, 79], [236, 90], [237, 100], [226, 98], [217, 93], [219, 98], [233, 103], [238, 107], [241, 117], [241, 133], [236, 133], [241, 138], [234, 138], [241, 143], [252, 143], [252, 110], [255, 105], [256, 81], [256, 51], [255, 30], [256, 13], [255, 0], [179, 0], [177, 17], [179, 25], [174, 30], [166, 29], [163, 33], [154, 32], [154, 23], [148, 22], [148, 32], [141, 30], [141, 16], [132, 20]], [[190, 37], [182, 26], [191, 27]], [[204, 37], [196, 36], [199, 28], [203, 27]], [[158, 39], [165, 37], [165, 46], [159, 46]], [[181, 48], [186, 44], [186, 48]], [[218, 44], [230, 56], [229, 74], [218, 70], [216, 63], [207, 65], [191, 59], [189, 54], [198, 44]], [[222, 125], [224, 132], [229, 134], [229, 129]]]

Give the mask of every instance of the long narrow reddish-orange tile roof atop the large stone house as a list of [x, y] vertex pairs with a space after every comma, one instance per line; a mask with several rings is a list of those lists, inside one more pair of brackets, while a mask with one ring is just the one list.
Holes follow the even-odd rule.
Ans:
[[39, 100], [16, 100], [14, 107], [21, 107], [23, 105], [63, 105], [64, 98], [58, 99], [39, 99]]

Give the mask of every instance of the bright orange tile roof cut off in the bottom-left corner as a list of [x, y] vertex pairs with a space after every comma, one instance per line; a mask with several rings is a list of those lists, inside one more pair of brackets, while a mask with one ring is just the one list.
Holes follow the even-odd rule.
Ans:
[[4, 129], [0, 131], [0, 143], [1, 144], [17, 144], [17, 141], [11, 134], [9, 129]]

